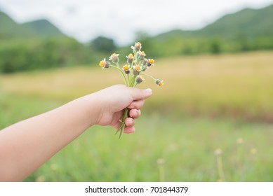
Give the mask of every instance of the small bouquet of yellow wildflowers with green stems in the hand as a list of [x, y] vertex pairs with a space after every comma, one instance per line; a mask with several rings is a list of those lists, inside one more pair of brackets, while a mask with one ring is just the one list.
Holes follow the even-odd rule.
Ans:
[[[154, 59], [147, 59], [144, 51], [141, 51], [141, 43], [135, 43], [134, 46], [131, 46], [133, 53], [126, 56], [127, 64], [124, 66], [119, 65], [119, 54], [113, 53], [109, 60], [103, 59], [100, 61], [99, 65], [102, 69], [114, 67], [117, 69], [121, 76], [124, 78], [124, 83], [128, 87], [136, 87], [138, 84], [142, 83], [144, 78], [142, 76], [148, 76], [152, 78], [158, 86], [163, 85], [163, 80], [156, 79], [148, 74], [142, 73], [145, 72], [150, 66], [154, 65]], [[124, 115], [121, 118], [121, 124], [119, 125], [116, 134], [119, 132], [119, 138], [121, 138], [122, 133], [125, 128], [125, 119], [128, 118], [129, 109], [124, 109]]]

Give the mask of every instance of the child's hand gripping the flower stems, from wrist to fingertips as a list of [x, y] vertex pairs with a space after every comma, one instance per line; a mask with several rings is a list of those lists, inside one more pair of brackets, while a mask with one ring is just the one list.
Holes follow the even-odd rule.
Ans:
[[144, 99], [152, 95], [152, 90], [140, 90], [135, 87], [126, 87], [125, 85], [114, 85], [107, 87], [95, 93], [98, 96], [101, 110], [97, 125], [110, 125], [117, 129], [124, 109], [130, 110], [129, 118], [126, 118], [125, 133], [135, 132], [135, 118], [140, 117], [140, 109], [144, 104]]

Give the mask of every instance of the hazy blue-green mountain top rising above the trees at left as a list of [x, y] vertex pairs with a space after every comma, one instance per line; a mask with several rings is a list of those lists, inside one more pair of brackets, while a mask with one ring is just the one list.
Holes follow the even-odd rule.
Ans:
[[35, 20], [18, 24], [6, 13], [0, 11], [0, 39], [47, 36], [65, 36], [65, 34], [48, 20]]

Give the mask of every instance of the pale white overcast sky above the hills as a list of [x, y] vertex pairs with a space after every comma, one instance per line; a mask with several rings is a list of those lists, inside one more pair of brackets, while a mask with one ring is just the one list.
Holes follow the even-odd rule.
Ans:
[[20, 23], [46, 18], [82, 42], [102, 35], [124, 45], [138, 31], [199, 29], [227, 13], [270, 4], [273, 0], [0, 0], [0, 10]]

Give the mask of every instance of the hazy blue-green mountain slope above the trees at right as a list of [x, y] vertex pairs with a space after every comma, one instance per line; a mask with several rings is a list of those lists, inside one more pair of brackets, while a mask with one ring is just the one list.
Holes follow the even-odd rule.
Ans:
[[273, 36], [273, 5], [260, 9], [246, 8], [237, 13], [227, 14], [203, 29], [182, 31], [180, 29], [159, 34], [155, 38]]

